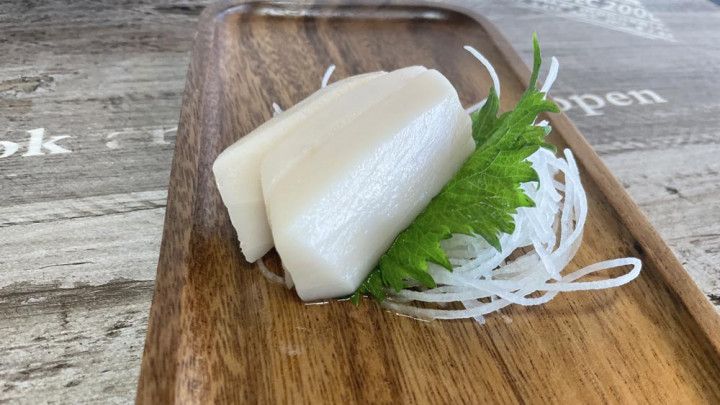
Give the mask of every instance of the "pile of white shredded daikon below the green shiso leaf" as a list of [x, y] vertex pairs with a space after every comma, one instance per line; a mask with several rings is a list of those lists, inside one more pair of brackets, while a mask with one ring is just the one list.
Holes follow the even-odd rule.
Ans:
[[[437, 287], [424, 291], [405, 289], [391, 292], [383, 305], [395, 312], [421, 319], [475, 318], [510, 304], [539, 305], [561, 291], [596, 290], [623, 285], [635, 279], [640, 260], [608, 260], [562, 275], [582, 241], [587, 218], [587, 198], [580, 182], [575, 159], [570, 150], [565, 158], [541, 149], [528, 160], [538, 173], [539, 182], [523, 184], [535, 201], [534, 207], [520, 208], [515, 215], [515, 231], [500, 239], [498, 252], [480, 237], [453, 236], [443, 248], [453, 264], [453, 271], [430, 265], [430, 275]], [[556, 178], [564, 175], [564, 183]], [[559, 236], [559, 237], [558, 237]], [[519, 248], [534, 250], [508, 261]], [[616, 267], [631, 266], [625, 274], [603, 280], [576, 281], [589, 274]], [[530, 297], [535, 292], [545, 292]], [[489, 301], [488, 301], [489, 299]], [[465, 309], [434, 309], [412, 305], [412, 301], [444, 304], [461, 302]]]

